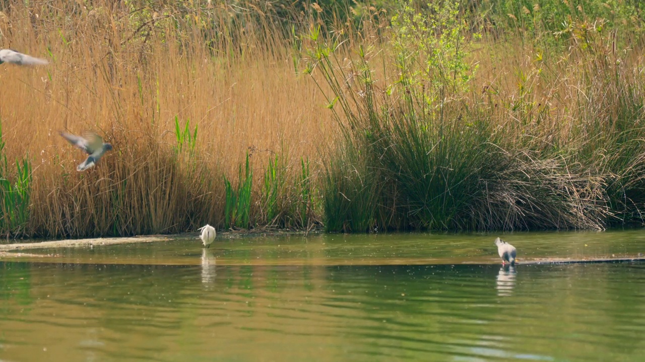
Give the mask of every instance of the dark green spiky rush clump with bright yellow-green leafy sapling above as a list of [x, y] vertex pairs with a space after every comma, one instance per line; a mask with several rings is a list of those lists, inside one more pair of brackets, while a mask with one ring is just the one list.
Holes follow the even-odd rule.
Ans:
[[447, 95], [467, 89], [471, 67], [464, 62], [457, 6], [438, 3], [432, 10], [435, 15], [426, 17], [404, 4], [394, 17], [393, 52], [384, 60], [392, 64], [381, 77], [392, 69], [400, 73], [385, 89], [375, 86], [368, 53], [373, 44], [362, 46], [344, 70], [337, 66], [340, 41], [325, 43], [310, 34], [317, 42], [310, 68], [321, 70], [332, 88], [328, 98], [344, 131], [342, 151], [326, 168], [330, 230], [453, 228], [484, 173], [481, 158], [495, 153], [492, 135], [481, 131], [485, 126], [466, 127], [463, 115], [449, 113]]

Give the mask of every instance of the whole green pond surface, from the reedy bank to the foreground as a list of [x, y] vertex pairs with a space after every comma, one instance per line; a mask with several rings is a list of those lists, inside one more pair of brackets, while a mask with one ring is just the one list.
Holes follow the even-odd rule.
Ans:
[[324, 234], [0, 260], [0, 361], [645, 361], [644, 231]]

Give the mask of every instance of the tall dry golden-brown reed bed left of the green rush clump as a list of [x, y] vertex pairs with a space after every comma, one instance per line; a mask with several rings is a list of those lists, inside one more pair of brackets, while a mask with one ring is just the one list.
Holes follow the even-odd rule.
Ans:
[[[286, 158], [291, 174], [301, 157], [317, 163], [319, 146], [331, 142], [334, 124], [324, 101], [315, 84], [295, 73], [290, 44], [281, 37], [267, 43], [246, 30], [239, 48], [222, 42], [213, 56], [197, 26], [179, 19], [183, 28], [174, 30], [171, 17], [158, 15], [154, 31], [136, 32], [141, 20], [130, 10], [111, 1], [94, 2], [93, 9], [34, 1], [5, 14], [3, 46], [51, 61], [43, 68], [0, 68], [8, 158], [28, 154], [34, 162], [26, 234], [222, 225], [223, 175], [235, 179], [247, 151], [259, 193], [273, 153]], [[209, 20], [223, 21], [224, 10], [213, 9]], [[198, 125], [191, 162], [174, 162], [175, 117], [181, 126], [188, 119], [191, 129]], [[59, 129], [94, 129], [114, 151], [77, 173], [84, 156]]]

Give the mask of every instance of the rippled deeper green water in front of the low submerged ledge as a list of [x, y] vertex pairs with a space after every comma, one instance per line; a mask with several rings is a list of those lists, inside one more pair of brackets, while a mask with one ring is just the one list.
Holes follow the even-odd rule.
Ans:
[[511, 270], [201, 257], [0, 268], [0, 359], [645, 359], [642, 263]]

